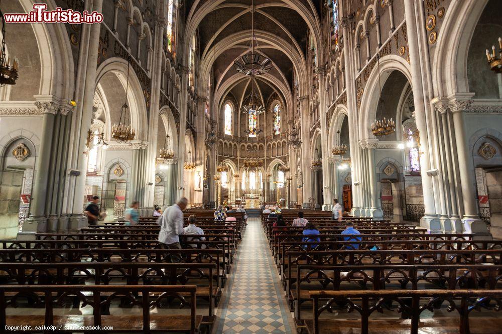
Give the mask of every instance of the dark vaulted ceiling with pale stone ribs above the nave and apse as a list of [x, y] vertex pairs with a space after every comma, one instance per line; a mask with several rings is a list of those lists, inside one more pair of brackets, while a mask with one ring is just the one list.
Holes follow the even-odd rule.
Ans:
[[[197, 28], [199, 54], [203, 62], [212, 64], [214, 91], [224, 92], [217, 103], [221, 103], [228, 94], [241, 101], [242, 96], [246, 95], [245, 89], [249, 88], [249, 80], [238, 74], [232, 65], [250, 45], [252, 0], [188, 0], [185, 15], [188, 18], [191, 12], [193, 15], [201, 11], [208, 2], [217, 3], [217, 6], [205, 13]], [[321, 0], [302, 0], [298, 4], [304, 6], [310, 15], [320, 17]], [[196, 7], [195, 11], [193, 6]], [[267, 35], [257, 38], [260, 52], [269, 57], [274, 64], [268, 78], [257, 80], [257, 88], [265, 103], [276, 93], [287, 100], [291, 96], [294, 82], [295, 65], [292, 58], [298, 56], [306, 59], [309, 27], [301, 13], [293, 9], [291, 0], [254, 0], [254, 6], [255, 31], [257, 35], [260, 33]], [[241, 38], [238, 42], [232, 41], [236, 36], [242, 37], [243, 33], [247, 33], [246, 38]], [[295, 56], [285, 52], [284, 48], [281, 50], [278, 45], [291, 47]]]

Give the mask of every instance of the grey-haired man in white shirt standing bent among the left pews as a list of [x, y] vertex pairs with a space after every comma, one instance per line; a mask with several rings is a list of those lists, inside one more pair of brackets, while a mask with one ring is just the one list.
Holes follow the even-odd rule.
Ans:
[[169, 249], [181, 249], [179, 235], [183, 234], [183, 210], [188, 205], [188, 199], [182, 197], [178, 203], [171, 205], [162, 214], [162, 219], [157, 221], [161, 227], [159, 232], [159, 242], [162, 242]]

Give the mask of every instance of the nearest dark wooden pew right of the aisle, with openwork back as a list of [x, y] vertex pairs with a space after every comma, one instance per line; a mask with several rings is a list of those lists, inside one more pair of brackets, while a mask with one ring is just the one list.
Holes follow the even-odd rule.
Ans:
[[[473, 328], [476, 333], [498, 332], [502, 325], [500, 317], [476, 316], [470, 317], [471, 310], [500, 309], [500, 290], [398, 290], [398, 291], [312, 291], [312, 320], [306, 320], [309, 334], [345, 333], [353, 328], [360, 328], [361, 334], [378, 333], [470, 333]], [[328, 299], [327, 303], [319, 304], [320, 299]], [[408, 300], [411, 299], [411, 304]], [[411, 319], [400, 319], [396, 316], [386, 319], [370, 319], [374, 311], [384, 310], [384, 301], [393, 300], [400, 307], [398, 312], [406, 309]], [[432, 304], [443, 300], [451, 311], [456, 311], [458, 317], [421, 318], [424, 310], [432, 308]], [[360, 320], [337, 319], [333, 317], [320, 318], [325, 310], [334, 310], [334, 303], [348, 303], [351, 313], [360, 316]], [[498, 307], [495, 307], [498, 306]], [[386, 312], [387, 313], [387, 312]], [[493, 314], [493, 313], [491, 313]]]

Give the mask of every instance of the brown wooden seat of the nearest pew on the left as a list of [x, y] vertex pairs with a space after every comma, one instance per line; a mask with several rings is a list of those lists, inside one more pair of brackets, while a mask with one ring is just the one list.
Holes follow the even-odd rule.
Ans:
[[[196, 315], [196, 328], [200, 327], [202, 318], [202, 315]], [[75, 332], [71, 327], [94, 326], [94, 316], [92, 315], [54, 315], [53, 319], [56, 330], [61, 332]], [[7, 325], [10, 326], [31, 325], [32, 332], [44, 332], [43, 330], [34, 330], [36, 326], [44, 325], [44, 315], [8, 315], [6, 320]], [[190, 333], [190, 320], [190, 315], [152, 314], [150, 315], [150, 331]], [[113, 327], [113, 332], [144, 332], [142, 315], [101, 315], [101, 327], [103, 326]], [[64, 330], [64, 328], [68, 329]], [[104, 332], [104, 330], [102, 331]]]

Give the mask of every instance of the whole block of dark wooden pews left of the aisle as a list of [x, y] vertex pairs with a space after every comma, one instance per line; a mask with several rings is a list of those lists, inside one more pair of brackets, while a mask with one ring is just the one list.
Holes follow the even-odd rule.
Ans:
[[205, 240], [183, 235], [182, 249], [157, 242], [153, 217], [0, 240], [0, 330], [211, 332], [245, 222], [189, 210], [186, 225], [190, 214]]

